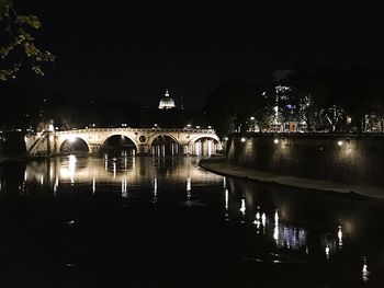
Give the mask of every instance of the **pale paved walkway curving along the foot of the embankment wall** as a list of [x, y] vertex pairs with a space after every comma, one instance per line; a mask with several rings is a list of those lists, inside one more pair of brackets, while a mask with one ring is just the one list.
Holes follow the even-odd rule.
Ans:
[[214, 157], [210, 159], [203, 159], [199, 162], [199, 165], [217, 174], [250, 178], [267, 183], [276, 183], [287, 186], [295, 186], [302, 188], [329, 191], [338, 193], [357, 193], [366, 197], [382, 198], [384, 199], [384, 187], [380, 186], [365, 186], [365, 185], [350, 185], [346, 183], [302, 178], [295, 176], [285, 176], [281, 174], [268, 173], [256, 171], [238, 165], [230, 164], [225, 161], [224, 157]]

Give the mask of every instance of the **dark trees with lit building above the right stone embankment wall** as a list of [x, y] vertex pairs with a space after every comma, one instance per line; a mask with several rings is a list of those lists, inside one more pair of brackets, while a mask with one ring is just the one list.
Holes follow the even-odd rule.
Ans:
[[383, 133], [384, 69], [312, 66], [262, 83], [234, 80], [211, 93], [205, 111], [219, 136], [275, 122], [304, 123], [306, 131]]

